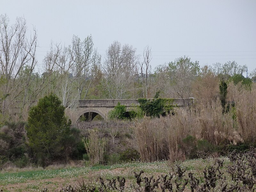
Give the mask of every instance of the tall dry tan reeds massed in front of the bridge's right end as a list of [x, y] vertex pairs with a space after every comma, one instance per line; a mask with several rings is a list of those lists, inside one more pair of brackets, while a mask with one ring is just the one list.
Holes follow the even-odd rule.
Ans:
[[253, 84], [251, 90], [240, 85], [232, 88], [236, 108], [227, 113], [223, 113], [219, 100], [212, 100], [197, 103], [185, 111], [178, 109], [175, 116], [145, 117], [137, 123], [135, 135], [141, 160], [152, 162], [177, 156], [178, 146], [188, 135], [197, 140], [207, 140], [215, 146], [255, 143], [256, 85]]

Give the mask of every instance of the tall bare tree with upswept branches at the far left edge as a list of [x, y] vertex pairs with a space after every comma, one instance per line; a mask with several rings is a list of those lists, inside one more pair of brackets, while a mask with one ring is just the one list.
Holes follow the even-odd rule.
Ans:
[[[4, 97], [2, 100], [2, 113], [13, 104], [13, 100], [23, 92], [23, 102], [27, 97], [27, 88], [31, 82], [31, 74], [37, 63], [36, 30], [30, 38], [27, 36], [26, 20], [17, 18], [14, 25], [9, 24], [7, 15], [0, 16], [0, 76], [4, 76]], [[26, 68], [28, 76], [25, 84], [20, 84], [19, 74]]]

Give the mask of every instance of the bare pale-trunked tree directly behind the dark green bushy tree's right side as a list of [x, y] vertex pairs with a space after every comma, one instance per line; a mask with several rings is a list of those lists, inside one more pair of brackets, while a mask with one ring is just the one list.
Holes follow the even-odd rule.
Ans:
[[62, 48], [60, 44], [51, 43], [51, 49], [44, 58], [43, 78], [47, 84], [47, 94], [56, 93], [62, 99], [62, 105], [76, 108], [79, 95], [77, 93], [78, 76], [73, 76], [74, 51], [71, 46]]

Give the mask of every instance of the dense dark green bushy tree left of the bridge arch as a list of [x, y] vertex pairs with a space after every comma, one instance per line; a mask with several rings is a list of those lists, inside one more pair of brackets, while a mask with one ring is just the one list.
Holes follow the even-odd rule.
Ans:
[[47, 165], [53, 160], [66, 160], [73, 148], [74, 135], [71, 121], [65, 117], [65, 108], [59, 98], [51, 93], [29, 111], [26, 126], [28, 145], [38, 164]]

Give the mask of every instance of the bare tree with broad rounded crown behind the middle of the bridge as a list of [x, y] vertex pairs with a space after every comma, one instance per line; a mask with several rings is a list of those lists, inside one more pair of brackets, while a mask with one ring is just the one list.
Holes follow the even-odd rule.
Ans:
[[133, 90], [133, 82], [137, 73], [138, 56], [136, 50], [115, 41], [108, 47], [105, 65], [105, 89], [111, 99], [122, 99]]

